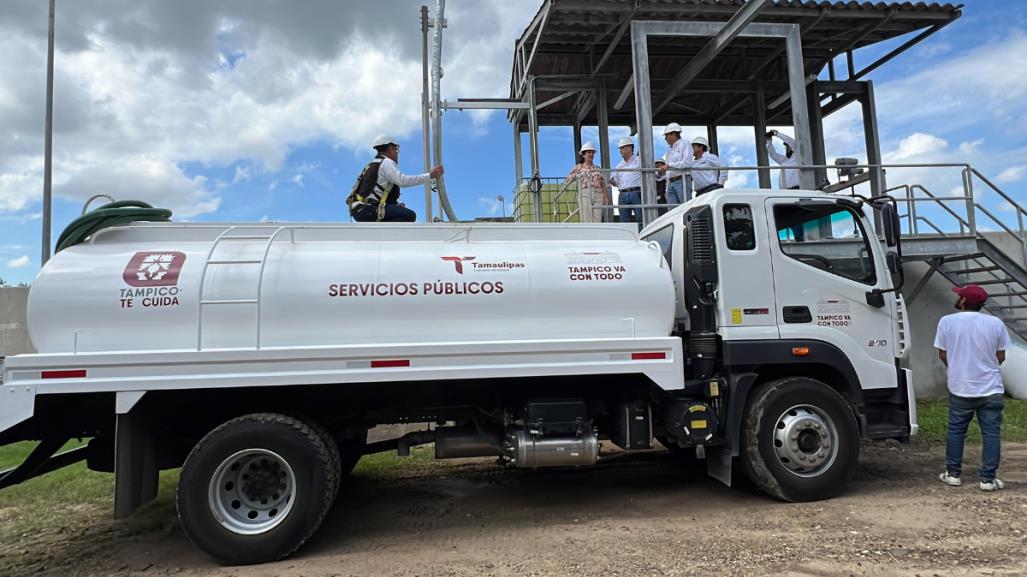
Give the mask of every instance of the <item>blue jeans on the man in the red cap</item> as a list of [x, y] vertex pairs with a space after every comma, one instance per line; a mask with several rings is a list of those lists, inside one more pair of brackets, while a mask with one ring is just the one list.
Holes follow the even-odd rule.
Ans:
[[981, 480], [992, 480], [1001, 458], [1002, 395], [965, 397], [949, 394], [949, 435], [945, 443], [945, 468], [952, 476], [962, 474], [963, 441], [977, 414], [984, 447], [981, 449]]

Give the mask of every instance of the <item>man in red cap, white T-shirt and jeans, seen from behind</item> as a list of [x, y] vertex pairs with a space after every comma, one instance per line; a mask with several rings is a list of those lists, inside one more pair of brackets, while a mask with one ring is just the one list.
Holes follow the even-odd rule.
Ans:
[[962, 453], [966, 428], [977, 414], [984, 447], [981, 450], [981, 491], [1004, 487], [995, 476], [1000, 458], [1002, 429], [1002, 374], [1005, 349], [1013, 346], [1002, 321], [981, 312], [988, 293], [977, 284], [956, 286], [959, 312], [938, 322], [935, 347], [945, 363], [949, 384], [949, 432], [945, 444], [946, 485], [962, 485]]

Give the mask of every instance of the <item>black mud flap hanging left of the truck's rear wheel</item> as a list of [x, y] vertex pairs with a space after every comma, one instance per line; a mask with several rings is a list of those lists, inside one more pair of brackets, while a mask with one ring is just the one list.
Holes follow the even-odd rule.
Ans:
[[114, 440], [114, 518], [130, 515], [157, 496], [153, 430], [139, 409], [117, 416]]

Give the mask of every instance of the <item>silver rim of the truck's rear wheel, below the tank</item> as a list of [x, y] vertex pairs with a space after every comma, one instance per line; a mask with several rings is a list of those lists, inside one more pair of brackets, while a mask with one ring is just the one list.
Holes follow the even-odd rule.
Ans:
[[296, 475], [272, 451], [239, 451], [211, 477], [208, 500], [222, 527], [238, 535], [260, 535], [289, 516], [296, 502]]

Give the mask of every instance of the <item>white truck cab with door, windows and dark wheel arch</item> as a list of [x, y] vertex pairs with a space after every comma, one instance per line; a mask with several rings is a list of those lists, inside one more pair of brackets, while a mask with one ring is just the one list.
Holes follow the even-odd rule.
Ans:
[[[901, 247], [878, 238], [868, 219], [895, 226], [893, 210], [881, 206], [892, 207], [819, 191], [721, 190], [647, 226], [641, 237], [659, 244], [673, 271], [692, 367], [702, 353], [690, 341], [716, 344], [702, 347], [716, 367], [691, 377], [720, 374], [736, 398], [777, 378], [815, 380], [845, 399], [863, 437], [915, 433], [896, 288]], [[743, 405], [727, 410], [733, 456], [744, 449], [732, 434]]]

